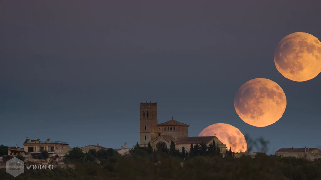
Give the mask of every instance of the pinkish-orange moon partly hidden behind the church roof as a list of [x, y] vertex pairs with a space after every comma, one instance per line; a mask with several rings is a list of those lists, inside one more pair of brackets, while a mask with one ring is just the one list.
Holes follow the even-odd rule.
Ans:
[[247, 150], [247, 143], [242, 132], [229, 124], [218, 123], [213, 124], [200, 132], [198, 136], [214, 136], [223, 143], [226, 144], [227, 149], [230, 149], [233, 152], [245, 152]]

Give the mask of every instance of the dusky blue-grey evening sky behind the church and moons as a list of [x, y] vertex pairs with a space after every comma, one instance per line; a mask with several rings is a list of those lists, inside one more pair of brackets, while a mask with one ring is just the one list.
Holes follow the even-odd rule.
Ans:
[[[132, 147], [140, 102], [189, 136], [227, 123], [280, 148], [321, 147], [321, 75], [284, 78], [274, 48], [286, 35], [321, 40], [321, 1], [0, 1], [0, 144]], [[268, 78], [285, 92], [282, 118], [243, 122], [239, 87]]]

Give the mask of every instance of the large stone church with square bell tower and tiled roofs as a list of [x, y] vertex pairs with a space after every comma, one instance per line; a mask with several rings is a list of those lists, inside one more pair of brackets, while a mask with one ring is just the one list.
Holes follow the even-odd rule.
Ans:
[[169, 148], [170, 141], [174, 141], [175, 148], [182, 151], [182, 147], [189, 151], [191, 143], [204, 143], [209, 146], [215, 141], [221, 149], [221, 153], [226, 153], [226, 144], [223, 144], [214, 136], [188, 136], [189, 125], [170, 119], [169, 121], [158, 124], [157, 102], [140, 104], [140, 145], [151, 143], [153, 148], [156, 144], [163, 142]]

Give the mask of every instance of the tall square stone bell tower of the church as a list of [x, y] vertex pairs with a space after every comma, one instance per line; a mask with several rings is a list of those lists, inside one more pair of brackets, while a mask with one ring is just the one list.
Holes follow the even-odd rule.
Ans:
[[140, 104], [140, 145], [157, 138], [157, 102]]

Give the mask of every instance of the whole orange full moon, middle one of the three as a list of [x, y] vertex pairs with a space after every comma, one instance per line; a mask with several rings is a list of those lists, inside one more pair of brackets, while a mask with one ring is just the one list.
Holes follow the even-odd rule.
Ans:
[[283, 89], [270, 79], [256, 78], [244, 83], [234, 98], [239, 117], [249, 125], [269, 126], [278, 121], [286, 107]]

